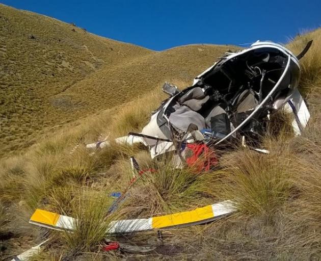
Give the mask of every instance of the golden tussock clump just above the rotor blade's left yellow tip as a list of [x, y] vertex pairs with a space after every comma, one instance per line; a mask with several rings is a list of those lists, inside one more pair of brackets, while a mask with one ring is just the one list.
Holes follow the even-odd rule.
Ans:
[[70, 194], [65, 192], [85, 186], [98, 175], [95, 168], [95, 160], [88, 154], [83, 158], [75, 154], [65, 159], [48, 156], [38, 159], [35, 170], [26, 178], [26, 202], [31, 208], [49, 204], [52, 211], [59, 211], [63, 203], [70, 205]]

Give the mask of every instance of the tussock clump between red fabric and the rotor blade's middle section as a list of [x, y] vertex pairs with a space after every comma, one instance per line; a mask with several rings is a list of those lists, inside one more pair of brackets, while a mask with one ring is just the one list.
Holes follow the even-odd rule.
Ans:
[[194, 168], [174, 169], [170, 163], [150, 169], [138, 177], [129, 192], [125, 205], [131, 217], [180, 212], [212, 202], [215, 174], [197, 174]]

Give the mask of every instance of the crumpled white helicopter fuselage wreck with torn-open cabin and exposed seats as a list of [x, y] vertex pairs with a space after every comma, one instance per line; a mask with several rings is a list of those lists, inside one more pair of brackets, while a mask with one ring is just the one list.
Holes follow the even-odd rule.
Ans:
[[[152, 113], [142, 132], [117, 138], [116, 143], [142, 143], [152, 158], [175, 152], [177, 168], [191, 165], [202, 155], [203, 170], [216, 165], [213, 151], [232, 144], [269, 153], [260, 148], [260, 141], [272, 114], [281, 109], [293, 113], [296, 135], [302, 133], [310, 118], [298, 85], [299, 59], [311, 44], [296, 57], [280, 44], [257, 41], [248, 49], [226, 53], [189, 88], [180, 91], [165, 83], [163, 91], [170, 97]], [[105, 139], [87, 148], [109, 145]]]

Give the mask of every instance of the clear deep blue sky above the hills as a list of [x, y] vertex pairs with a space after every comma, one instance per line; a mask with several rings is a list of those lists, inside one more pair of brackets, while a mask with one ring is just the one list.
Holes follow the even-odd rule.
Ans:
[[285, 43], [321, 26], [321, 0], [0, 0], [154, 50], [183, 44]]

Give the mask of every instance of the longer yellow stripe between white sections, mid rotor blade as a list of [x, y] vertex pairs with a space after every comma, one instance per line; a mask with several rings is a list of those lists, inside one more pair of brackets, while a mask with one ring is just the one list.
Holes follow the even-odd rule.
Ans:
[[214, 217], [212, 206], [204, 206], [196, 208], [196, 210], [170, 214], [166, 216], [153, 217], [152, 228], [162, 228], [181, 224], [188, 224], [204, 219]]

